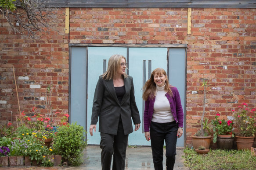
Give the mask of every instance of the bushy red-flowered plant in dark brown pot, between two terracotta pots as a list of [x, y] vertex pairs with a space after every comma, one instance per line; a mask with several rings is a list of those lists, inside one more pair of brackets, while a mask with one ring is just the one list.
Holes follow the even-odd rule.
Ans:
[[219, 149], [232, 149], [234, 144], [233, 121], [219, 119], [220, 114], [216, 114], [212, 120], [213, 125], [213, 143], [217, 142]]

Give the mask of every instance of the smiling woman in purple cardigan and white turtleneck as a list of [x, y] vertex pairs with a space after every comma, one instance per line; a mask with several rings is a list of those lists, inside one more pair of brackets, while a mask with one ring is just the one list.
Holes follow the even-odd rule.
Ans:
[[166, 72], [157, 68], [143, 87], [144, 130], [155, 170], [162, 170], [163, 144], [166, 142], [166, 169], [173, 170], [177, 138], [183, 133], [183, 109], [176, 87], [169, 85]]

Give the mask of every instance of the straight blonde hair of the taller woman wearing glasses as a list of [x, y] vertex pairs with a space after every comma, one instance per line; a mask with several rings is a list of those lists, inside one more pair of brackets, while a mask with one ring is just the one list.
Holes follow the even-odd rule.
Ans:
[[[113, 78], [118, 75], [121, 59], [124, 59], [126, 62], [126, 58], [119, 54], [115, 54], [108, 59], [108, 69], [104, 74], [102, 74], [102, 78], [104, 80], [113, 80]], [[123, 77], [127, 78], [128, 76], [124, 73]]]

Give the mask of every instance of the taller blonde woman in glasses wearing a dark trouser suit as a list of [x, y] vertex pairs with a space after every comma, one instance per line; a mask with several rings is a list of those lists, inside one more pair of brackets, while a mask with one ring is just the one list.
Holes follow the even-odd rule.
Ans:
[[92, 108], [90, 135], [96, 132], [99, 118], [101, 132], [101, 167], [110, 170], [124, 170], [126, 146], [129, 133], [140, 128], [140, 114], [134, 97], [133, 78], [126, 74], [126, 59], [113, 55], [108, 60], [106, 73], [97, 82]]

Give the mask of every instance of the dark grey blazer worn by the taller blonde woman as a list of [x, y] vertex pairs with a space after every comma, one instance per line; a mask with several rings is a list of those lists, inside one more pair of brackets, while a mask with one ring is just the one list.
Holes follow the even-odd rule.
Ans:
[[113, 80], [103, 80], [99, 77], [97, 82], [92, 108], [91, 125], [96, 125], [99, 118], [99, 132], [112, 135], [117, 134], [119, 117], [121, 115], [125, 135], [133, 132], [133, 123], [141, 123], [140, 114], [135, 103], [133, 78], [124, 79], [125, 94], [119, 103]]

